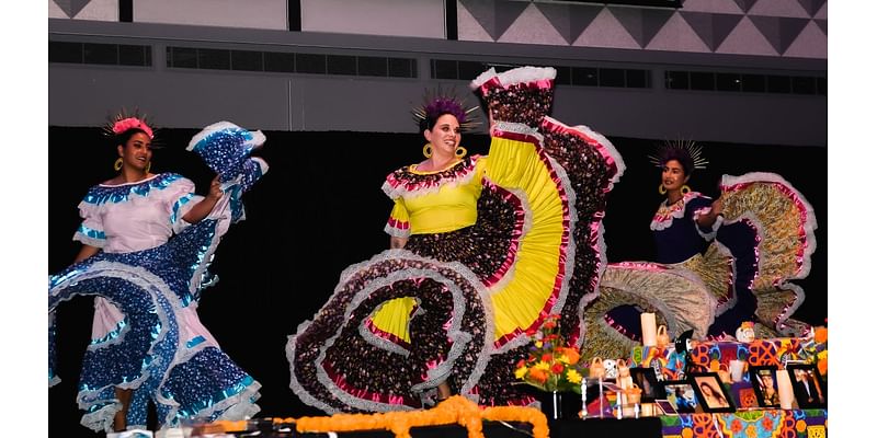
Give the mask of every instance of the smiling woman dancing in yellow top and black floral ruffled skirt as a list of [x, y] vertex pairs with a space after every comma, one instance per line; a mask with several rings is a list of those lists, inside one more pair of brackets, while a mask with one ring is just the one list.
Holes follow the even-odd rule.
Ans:
[[555, 73], [491, 69], [474, 81], [489, 113], [487, 157], [459, 146], [471, 120], [454, 99], [417, 113], [426, 160], [383, 187], [392, 249], [349, 267], [287, 344], [304, 402], [387, 411], [454, 392], [527, 404], [511, 385], [527, 332], [560, 313], [565, 335], [581, 343], [579, 315], [604, 260], [605, 194], [624, 164], [599, 134], [547, 117]]

